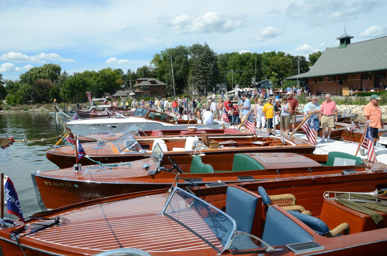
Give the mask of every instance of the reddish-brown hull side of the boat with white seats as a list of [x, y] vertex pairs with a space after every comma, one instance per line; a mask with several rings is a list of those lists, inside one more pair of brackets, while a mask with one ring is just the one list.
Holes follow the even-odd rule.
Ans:
[[[305, 146], [296, 146], [296, 147], [243, 147], [243, 148], [220, 148], [219, 150], [201, 150], [206, 155], [219, 155], [219, 154], [235, 154], [235, 153], [258, 153], [258, 152], [288, 152], [288, 153], [299, 153], [299, 154], [312, 154], [315, 150], [313, 145]], [[85, 149], [87, 152], [87, 150]], [[175, 156], [190, 156], [194, 154], [194, 151], [187, 152], [173, 152], [167, 151], [164, 152], [167, 156], [175, 157]], [[74, 155], [60, 155], [60, 154], [52, 154], [50, 150], [47, 150], [46, 157], [48, 160], [56, 164], [59, 168], [67, 168], [72, 167], [75, 164], [75, 154]], [[99, 161], [104, 164], [110, 163], [119, 163], [119, 162], [130, 162], [134, 160], [144, 159], [140, 153], [133, 154], [121, 154], [121, 155], [103, 155], [103, 156], [92, 156], [89, 155], [91, 159], [94, 161]], [[91, 160], [83, 157], [79, 160], [79, 163], [82, 166], [95, 164]]]

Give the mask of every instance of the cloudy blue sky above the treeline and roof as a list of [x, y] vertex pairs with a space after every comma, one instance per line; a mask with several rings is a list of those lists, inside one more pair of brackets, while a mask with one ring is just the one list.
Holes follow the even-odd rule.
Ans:
[[205, 42], [217, 53], [305, 55], [387, 36], [376, 0], [0, 0], [0, 73], [18, 79], [45, 63], [62, 72], [149, 65], [155, 53]]

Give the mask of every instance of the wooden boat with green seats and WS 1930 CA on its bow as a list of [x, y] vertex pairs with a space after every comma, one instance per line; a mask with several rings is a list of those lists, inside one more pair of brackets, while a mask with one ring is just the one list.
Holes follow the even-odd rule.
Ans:
[[[336, 157], [348, 160], [335, 162]], [[348, 169], [365, 171], [366, 167], [371, 170], [380, 168], [369, 166], [368, 162], [366, 164], [358, 157], [341, 152], [329, 155], [237, 153], [167, 157], [156, 147], [151, 157], [128, 164], [105, 167], [90, 165], [83, 166], [82, 171], [65, 168], [33, 172], [31, 175], [38, 201], [42, 210], [45, 210], [106, 196], [167, 188], [175, 179], [176, 171], [181, 173], [180, 177], [204, 185], [220, 181], [237, 183], [338, 175]], [[144, 168], [144, 165], [148, 167]]]

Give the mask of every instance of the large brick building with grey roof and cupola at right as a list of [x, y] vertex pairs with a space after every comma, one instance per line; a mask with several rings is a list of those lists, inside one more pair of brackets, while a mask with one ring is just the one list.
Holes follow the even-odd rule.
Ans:
[[384, 90], [387, 71], [387, 36], [351, 44], [344, 33], [340, 45], [326, 48], [310, 70], [286, 80], [300, 80], [310, 91], [342, 95], [345, 87], [358, 91]]

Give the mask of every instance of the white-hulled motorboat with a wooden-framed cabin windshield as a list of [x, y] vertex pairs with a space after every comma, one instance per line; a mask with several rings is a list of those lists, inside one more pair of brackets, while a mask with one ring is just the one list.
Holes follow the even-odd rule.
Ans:
[[225, 129], [228, 123], [214, 120], [211, 125], [196, 124], [195, 120], [177, 119], [168, 114], [160, 113], [148, 108], [137, 108], [132, 116], [122, 118], [92, 118], [67, 122], [70, 130], [78, 135], [96, 134], [103, 131], [123, 131], [130, 125], [137, 125], [142, 130], [186, 130], [187, 125], [194, 124], [198, 129]]

